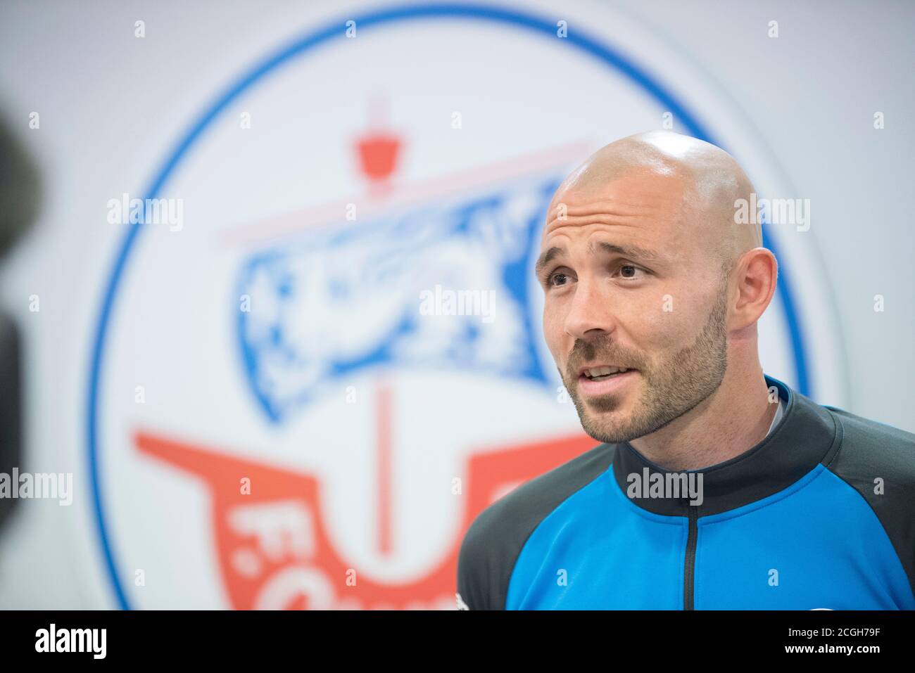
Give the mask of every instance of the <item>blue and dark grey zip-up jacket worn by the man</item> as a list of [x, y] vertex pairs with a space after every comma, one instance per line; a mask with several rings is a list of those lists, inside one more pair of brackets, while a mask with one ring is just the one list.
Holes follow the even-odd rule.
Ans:
[[784, 416], [731, 460], [673, 473], [600, 444], [487, 507], [458, 554], [458, 605], [915, 609], [915, 434], [766, 379]]

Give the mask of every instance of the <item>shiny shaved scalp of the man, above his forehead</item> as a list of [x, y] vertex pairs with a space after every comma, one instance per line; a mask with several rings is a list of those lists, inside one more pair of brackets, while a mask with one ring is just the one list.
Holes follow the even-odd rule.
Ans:
[[559, 204], [600, 199], [624, 178], [637, 178], [630, 181], [633, 185], [666, 185], [662, 188], [680, 199], [682, 224], [695, 228], [694, 234], [727, 266], [762, 245], [759, 223], [735, 222], [735, 201], [749, 200], [754, 189], [734, 157], [671, 131], [630, 135], [597, 150], [556, 190], [548, 219]]

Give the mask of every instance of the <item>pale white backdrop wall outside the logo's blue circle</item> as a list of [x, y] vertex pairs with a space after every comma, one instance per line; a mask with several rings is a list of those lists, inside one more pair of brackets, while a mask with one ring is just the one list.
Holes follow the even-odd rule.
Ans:
[[[811, 199], [809, 233], [834, 288], [845, 340], [845, 407], [915, 432], [915, 5], [613, 5], [716, 80], [759, 130], [797, 196]], [[288, 20], [290, 7], [298, 8], [300, 25]], [[0, 107], [37, 155], [52, 195], [38, 226], [0, 269], [0, 301], [27, 341], [29, 471], [84, 471], [90, 339], [122, 235], [86, 222], [102, 220], [113, 184], [145, 185], [190, 115], [260, 56], [227, 45], [259, 38], [277, 44], [332, 9], [266, 2], [0, 5]], [[133, 35], [137, 18], [146, 22], [144, 40]], [[766, 35], [773, 19], [778, 39]], [[32, 111], [41, 114], [39, 131], [27, 129]], [[877, 111], [886, 115], [881, 131], [873, 128]], [[27, 311], [30, 294], [41, 297], [40, 317]], [[875, 294], [885, 297], [883, 313], [873, 309]], [[818, 401], [830, 403], [828, 391]], [[0, 537], [0, 607], [112, 606], [92, 528], [76, 520], [86, 508], [21, 504]]]

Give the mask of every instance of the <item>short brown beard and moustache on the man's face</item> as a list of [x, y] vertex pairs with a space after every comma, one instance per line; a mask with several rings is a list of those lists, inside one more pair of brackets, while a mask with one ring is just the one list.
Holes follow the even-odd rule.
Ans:
[[[576, 339], [569, 356], [565, 390], [575, 402], [582, 428], [600, 443], [622, 443], [651, 434], [693, 410], [715, 392], [727, 371], [727, 284], [722, 283], [716, 304], [691, 346], [651, 363], [638, 352], [624, 350], [608, 338]], [[588, 397], [577, 393], [579, 363], [612, 362], [638, 369], [642, 390], [626, 418], [602, 418], [622, 405], [619, 394]], [[560, 372], [562, 376], [562, 372]]]

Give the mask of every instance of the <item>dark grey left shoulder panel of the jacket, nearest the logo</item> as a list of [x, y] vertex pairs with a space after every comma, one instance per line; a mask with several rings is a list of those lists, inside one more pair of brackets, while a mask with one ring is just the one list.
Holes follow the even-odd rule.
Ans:
[[565, 499], [603, 474], [615, 446], [599, 444], [515, 488], [479, 513], [458, 552], [458, 594], [470, 610], [504, 610], [527, 539]]

